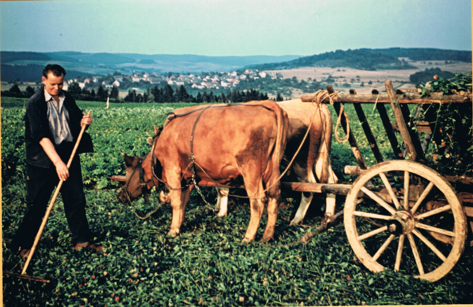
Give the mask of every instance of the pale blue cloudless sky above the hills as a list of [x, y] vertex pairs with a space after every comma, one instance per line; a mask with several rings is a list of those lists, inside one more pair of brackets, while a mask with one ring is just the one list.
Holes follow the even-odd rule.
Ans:
[[472, 50], [470, 0], [0, 1], [0, 50], [206, 56]]

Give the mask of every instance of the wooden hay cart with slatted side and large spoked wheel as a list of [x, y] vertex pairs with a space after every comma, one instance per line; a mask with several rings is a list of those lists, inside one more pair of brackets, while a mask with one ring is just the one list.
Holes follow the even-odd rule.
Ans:
[[[380, 94], [375, 90], [373, 94], [361, 95], [350, 90], [350, 93], [339, 93], [333, 97], [337, 115], [341, 103], [354, 105], [378, 164], [369, 168], [366, 166], [357, 141], [349, 132], [350, 146], [358, 166], [346, 166], [345, 173], [358, 175], [353, 184], [281, 183], [281, 188], [347, 195], [343, 209], [345, 231], [356, 257], [363, 265], [372, 272], [381, 272], [389, 267], [421, 279], [437, 281], [450, 272], [459, 260], [468, 230], [466, 216], [473, 216], [473, 207], [462, 205], [449, 180], [464, 183], [473, 183], [473, 180], [446, 178], [422, 164], [424, 157], [418, 134], [409, 129], [413, 126], [412, 120], [406, 123], [410, 115], [407, 104], [471, 104], [472, 94], [431, 93], [430, 97], [421, 98], [417, 92], [398, 90], [396, 93], [389, 80], [385, 86], [387, 93]], [[333, 93], [331, 86], [327, 86], [327, 90]], [[302, 96], [303, 102], [312, 99], [313, 94]], [[361, 103], [376, 103], [397, 159], [384, 161]], [[393, 108], [410, 160], [403, 157], [398, 146], [385, 103], [390, 103]], [[344, 116], [341, 124], [346, 133]], [[428, 123], [420, 129], [428, 132]], [[469, 201], [473, 199], [471, 193], [462, 193], [462, 196], [469, 198]], [[326, 216], [335, 216], [335, 212], [326, 212]], [[473, 223], [470, 223], [473, 228]], [[406, 237], [408, 240], [405, 240]]]

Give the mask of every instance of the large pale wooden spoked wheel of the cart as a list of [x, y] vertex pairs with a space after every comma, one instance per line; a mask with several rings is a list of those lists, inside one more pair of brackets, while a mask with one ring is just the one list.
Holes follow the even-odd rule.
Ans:
[[[377, 189], [365, 187], [369, 180]], [[383, 162], [359, 176], [347, 195], [344, 223], [353, 251], [370, 271], [391, 267], [429, 281], [455, 266], [467, 232], [451, 184], [431, 168], [407, 160]], [[406, 236], [409, 243], [404, 244]]]

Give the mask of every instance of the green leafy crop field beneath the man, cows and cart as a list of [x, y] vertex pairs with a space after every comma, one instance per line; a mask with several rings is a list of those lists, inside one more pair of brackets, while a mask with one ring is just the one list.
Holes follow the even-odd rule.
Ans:
[[[25, 262], [9, 249], [25, 208], [25, 104], [23, 99], [1, 101], [2, 257], [3, 269], [15, 273]], [[119, 152], [145, 156], [149, 152], [146, 138], [153, 134], [153, 124], [162, 124], [167, 112], [189, 104], [112, 104], [108, 110], [105, 103], [79, 101], [78, 105], [84, 111], [91, 110], [94, 117], [88, 133], [95, 152], [81, 154], [80, 159], [88, 221], [96, 244], [104, 249], [72, 249], [59, 197], [27, 271], [51, 282], [3, 277], [5, 306], [473, 303], [473, 255], [469, 244], [453, 270], [438, 282], [415, 279], [410, 270], [394, 272], [392, 266], [382, 273], [371, 273], [355, 257], [342, 223], [307, 244], [287, 245], [314, 230], [324, 214], [324, 199], [320, 197], [309, 209], [305, 227], [289, 226], [299, 192], [282, 192], [275, 239], [269, 243], [240, 244], [250, 218], [246, 199], [230, 197], [228, 216], [217, 218], [195, 190], [181, 233], [174, 239], [166, 237], [172, 215], [170, 206], [159, 208], [148, 220], [140, 220], [129, 206], [118, 201], [118, 185], [106, 175], [124, 174]], [[372, 108], [364, 106], [378, 146], [385, 158], [392, 158], [383, 126]], [[347, 105], [345, 110], [363, 157], [368, 165], [375, 164], [354, 109]], [[333, 122], [335, 119], [333, 116]], [[342, 129], [339, 133], [343, 135]], [[333, 140], [332, 163], [340, 182], [355, 179], [342, 174], [345, 165], [356, 164], [348, 143]], [[214, 189], [202, 190], [214, 203]], [[152, 191], [150, 206], [139, 199], [135, 208], [143, 214], [151, 211], [158, 204], [157, 194]], [[337, 208], [342, 205], [343, 196], [337, 197]], [[265, 223], [263, 215], [257, 240]], [[414, 265], [409, 256], [407, 263]]]

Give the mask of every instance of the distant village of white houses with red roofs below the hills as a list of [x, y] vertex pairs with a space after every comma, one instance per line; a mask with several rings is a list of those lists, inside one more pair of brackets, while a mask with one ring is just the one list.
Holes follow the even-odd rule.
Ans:
[[[265, 72], [259, 72], [257, 69], [246, 69], [244, 73], [238, 75], [236, 71], [233, 72], [226, 72], [211, 75], [201, 75], [196, 76], [193, 74], [189, 75], [171, 75], [171, 76], [164, 76], [164, 75], [157, 75], [153, 73], [152, 75], [143, 73], [141, 75], [133, 74], [133, 75], [114, 75], [114, 81], [102, 81], [102, 87], [104, 88], [113, 88], [116, 86], [117, 88], [120, 87], [120, 84], [123, 83], [124, 80], [129, 82], [149, 82], [151, 84], [154, 83], [163, 83], [166, 82], [169, 85], [187, 85], [191, 86], [195, 89], [219, 89], [219, 88], [232, 88], [236, 87], [240, 83], [241, 80], [248, 80], [248, 79], [259, 79], [259, 78], [266, 78], [268, 74]], [[273, 79], [280, 78], [282, 79], [282, 74], [272, 72], [270, 75]], [[81, 89], [86, 87], [88, 83], [96, 83], [103, 77], [94, 76], [91, 78], [85, 78], [84, 80], [78, 79], [70, 79], [67, 81], [67, 84], [77, 82]], [[81, 82], [82, 81], [82, 82]], [[64, 85], [64, 89], [67, 91], [67, 84]]]

